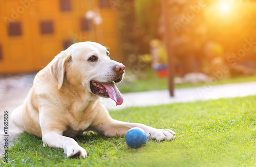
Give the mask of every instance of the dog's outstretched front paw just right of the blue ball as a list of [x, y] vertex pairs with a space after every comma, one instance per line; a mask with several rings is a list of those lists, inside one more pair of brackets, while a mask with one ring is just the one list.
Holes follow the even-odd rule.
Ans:
[[170, 129], [156, 129], [150, 133], [150, 138], [154, 140], [174, 140], [175, 132]]

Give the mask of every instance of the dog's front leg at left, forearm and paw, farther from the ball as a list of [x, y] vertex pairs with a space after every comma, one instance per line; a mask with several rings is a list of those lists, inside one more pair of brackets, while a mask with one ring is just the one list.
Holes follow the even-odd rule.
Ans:
[[63, 149], [69, 158], [87, 157], [86, 150], [80, 147], [73, 138], [62, 136], [60, 132], [44, 131], [42, 133], [42, 141], [44, 142], [44, 147]]

